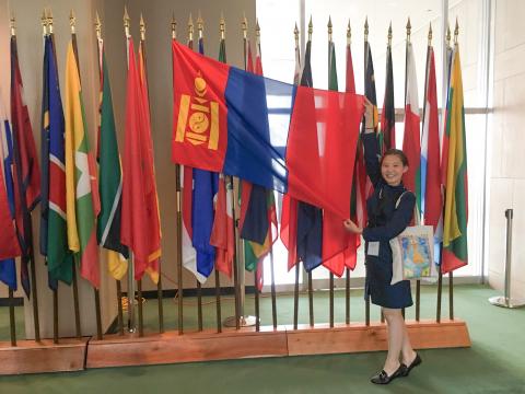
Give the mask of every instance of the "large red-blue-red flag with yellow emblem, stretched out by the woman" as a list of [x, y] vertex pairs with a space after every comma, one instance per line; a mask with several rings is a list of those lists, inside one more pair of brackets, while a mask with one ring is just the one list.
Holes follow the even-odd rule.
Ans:
[[172, 45], [174, 162], [350, 217], [361, 96], [296, 88]]

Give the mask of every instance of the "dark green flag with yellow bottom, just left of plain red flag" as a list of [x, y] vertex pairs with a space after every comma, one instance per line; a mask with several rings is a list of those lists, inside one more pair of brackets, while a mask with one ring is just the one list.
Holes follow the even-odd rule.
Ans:
[[113, 114], [112, 88], [107, 71], [104, 43], [98, 42], [101, 70], [101, 103], [98, 127], [98, 193], [101, 212], [97, 221], [98, 244], [107, 251], [107, 268], [119, 280], [128, 270], [128, 248], [120, 242], [122, 173]]

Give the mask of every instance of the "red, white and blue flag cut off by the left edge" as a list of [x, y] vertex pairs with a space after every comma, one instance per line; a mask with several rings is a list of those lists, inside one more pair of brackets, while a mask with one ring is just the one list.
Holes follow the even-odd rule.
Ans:
[[22, 254], [16, 237], [13, 140], [9, 119], [0, 103], [0, 220], [4, 223], [0, 232], [0, 281], [16, 290], [16, 266], [14, 257]]

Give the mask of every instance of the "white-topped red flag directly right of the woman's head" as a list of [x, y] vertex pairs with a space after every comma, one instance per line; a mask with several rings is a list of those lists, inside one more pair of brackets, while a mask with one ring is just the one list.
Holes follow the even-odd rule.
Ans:
[[421, 144], [420, 117], [418, 101], [418, 79], [412, 44], [407, 43], [407, 72], [405, 96], [405, 134], [402, 151], [408, 158], [408, 171], [402, 176], [405, 187], [416, 195], [419, 211], [421, 211]]

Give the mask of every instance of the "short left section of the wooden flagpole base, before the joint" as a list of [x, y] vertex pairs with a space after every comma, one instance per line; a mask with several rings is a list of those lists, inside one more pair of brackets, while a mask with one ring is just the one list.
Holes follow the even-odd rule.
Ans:
[[0, 343], [0, 375], [81, 371], [84, 369], [85, 351], [89, 338], [19, 340], [16, 346]]

